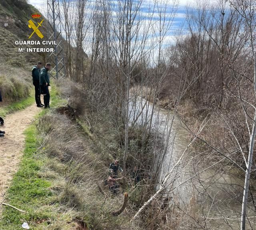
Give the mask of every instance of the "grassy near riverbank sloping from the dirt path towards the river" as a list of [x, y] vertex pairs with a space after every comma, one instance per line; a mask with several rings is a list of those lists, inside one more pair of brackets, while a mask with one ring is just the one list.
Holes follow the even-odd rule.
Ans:
[[136, 211], [134, 204], [142, 202], [143, 187], [129, 183], [128, 206], [114, 216], [123, 195], [110, 195], [104, 185], [114, 160], [106, 151], [106, 146], [113, 151], [112, 131], [101, 124], [101, 136], [91, 132], [87, 122], [72, 119], [67, 101], [59, 95], [54, 88], [51, 109], [43, 110], [25, 132], [24, 155], [4, 200], [24, 212], [2, 206], [0, 229], [19, 229], [23, 222], [38, 230], [139, 229], [129, 221]]

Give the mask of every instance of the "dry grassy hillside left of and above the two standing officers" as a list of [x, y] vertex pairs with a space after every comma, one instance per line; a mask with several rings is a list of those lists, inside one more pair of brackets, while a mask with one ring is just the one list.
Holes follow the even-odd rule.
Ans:
[[28, 20], [35, 12], [38, 10], [25, 0], [0, 0], [0, 90], [4, 103], [29, 96], [31, 66], [42, 61], [38, 53], [18, 53], [15, 45], [16, 40], [28, 39]]

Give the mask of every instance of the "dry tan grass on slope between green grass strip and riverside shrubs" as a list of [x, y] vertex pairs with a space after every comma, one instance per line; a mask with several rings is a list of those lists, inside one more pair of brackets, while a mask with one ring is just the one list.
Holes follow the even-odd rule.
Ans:
[[[70, 213], [73, 224], [79, 220], [90, 229], [138, 229], [130, 226], [130, 218], [124, 218], [124, 215], [131, 215], [131, 210], [118, 217], [111, 215], [122, 206], [123, 196], [121, 193], [111, 196], [104, 187], [108, 168], [99, 154], [92, 153], [90, 146], [93, 143], [82, 134], [80, 127], [67, 116], [52, 112], [40, 118], [37, 128], [41, 130], [43, 140], [42, 154], [47, 155], [40, 175], [52, 181], [50, 189], [54, 196], [51, 203], [58, 204], [58, 212]], [[107, 196], [100, 193], [99, 184]], [[62, 226], [58, 219], [53, 224]]]

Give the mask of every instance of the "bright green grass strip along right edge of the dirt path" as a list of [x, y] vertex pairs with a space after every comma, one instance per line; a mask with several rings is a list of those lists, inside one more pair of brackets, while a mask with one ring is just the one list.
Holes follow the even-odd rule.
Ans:
[[47, 208], [39, 213], [37, 213], [36, 210], [45, 204], [47, 198], [52, 195], [48, 189], [51, 183], [39, 177], [42, 161], [33, 159], [33, 153], [37, 149], [35, 126], [30, 126], [25, 134], [26, 145], [24, 155], [20, 162], [20, 168], [13, 177], [12, 185], [8, 190], [5, 202], [22, 210], [26, 210], [27, 213], [24, 214], [14, 208], [6, 206], [0, 222], [1, 230], [21, 229], [21, 224], [24, 221], [40, 220], [44, 218]]

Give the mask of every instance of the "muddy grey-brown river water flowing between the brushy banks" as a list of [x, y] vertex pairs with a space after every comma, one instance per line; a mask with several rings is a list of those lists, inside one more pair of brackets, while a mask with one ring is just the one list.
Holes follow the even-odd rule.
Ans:
[[[145, 122], [151, 116], [152, 104], [145, 100], [137, 100], [130, 106], [131, 116], [134, 116], [134, 111], [136, 116], [140, 116], [137, 122]], [[179, 160], [190, 143], [191, 136], [182, 128], [177, 116], [173, 119], [172, 112], [161, 108], [154, 109], [152, 128], [162, 134], [163, 145], [168, 140], [161, 170], [163, 178]], [[192, 153], [189, 149], [181, 163], [172, 171], [169, 180], [170, 189], [181, 184], [172, 192], [172, 202], [188, 214], [204, 220], [205, 229], [240, 229], [244, 173], [220, 167], [219, 164], [210, 165], [205, 155], [196, 156], [199, 153]], [[207, 170], [203, 171], [204, 169]], [[191, 177], [193, 178], [190, 179]], [[186, 183], [183, 183], [185, 181]], [[254, 192], [253, 197], [255, 197]], [[248, 206], [247, 215], [252, 226], [250, 227], [247, 222], [247, 228], [256, 229], [253, 205]]]

